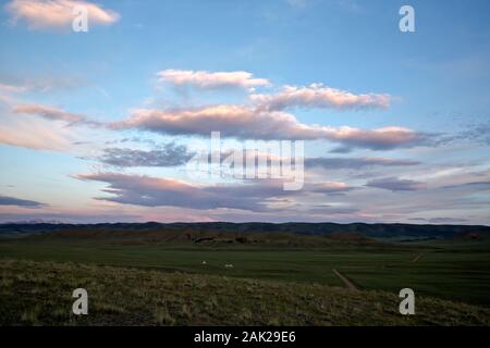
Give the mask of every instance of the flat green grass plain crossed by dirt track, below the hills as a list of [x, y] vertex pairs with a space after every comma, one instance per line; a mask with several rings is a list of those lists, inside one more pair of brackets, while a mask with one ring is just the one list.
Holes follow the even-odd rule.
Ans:
[[[414, 259], [420, 256], [417, 262]], [[344, 287], [332, 270], [359, 289], [416, 295], [488, 307], [487, 241], [427, 241], [321, 248], [195, 246], [81, 238], [0, 239], [0, 258], [139, 268], [284, 283]], [[203, 264], [206, 261], [206, 264]], [[225, 268], [233, 264], [233, 268]]]

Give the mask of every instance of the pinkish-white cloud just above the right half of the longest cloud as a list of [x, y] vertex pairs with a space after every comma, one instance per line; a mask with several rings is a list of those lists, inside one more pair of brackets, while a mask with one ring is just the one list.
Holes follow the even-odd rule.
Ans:
[[321, 84], [308, 87], [285, 86], [275, 95], [252, 95], [259, 110], [281, 111], [291, 108], [320, 108], [338, 110], [388, 109], [391, 96], [368, 94], [354, 95]]

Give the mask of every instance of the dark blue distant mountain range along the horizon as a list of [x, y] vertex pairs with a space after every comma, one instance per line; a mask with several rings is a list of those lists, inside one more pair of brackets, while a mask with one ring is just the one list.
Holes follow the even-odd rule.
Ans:
[[103, 223], [64, 224], [60, 222], [29, 221], [0, 224], [0, 235], [45, 234], [62, 231], [103, 232], [199, 232], [199, 233], [294, 233], [303, 235], [330, 235], [355, 233], [372, 238], [452, 238], [457, 235], [487, 234], [490, 226], [481, 225], [414, 225], [414, 224], [367, 224], [367, 223]]

